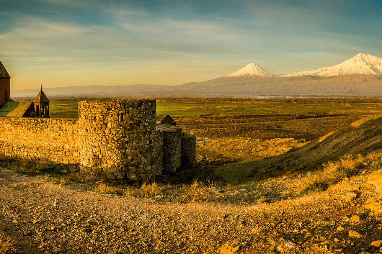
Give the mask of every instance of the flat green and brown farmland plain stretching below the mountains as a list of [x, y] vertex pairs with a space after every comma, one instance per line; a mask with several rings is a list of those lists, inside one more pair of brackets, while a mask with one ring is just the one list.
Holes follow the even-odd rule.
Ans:
[[[157, 113], [169, 114], [183, 131], [209, 140], [198, 143], [198, 161], [227, 181], [250, 181], [251, 169], [261, 166], [261, 159], [381, 110], [379, 100], [157, 100]], [[78, 102], [51, 102], [50, 114], [77, 118]]]

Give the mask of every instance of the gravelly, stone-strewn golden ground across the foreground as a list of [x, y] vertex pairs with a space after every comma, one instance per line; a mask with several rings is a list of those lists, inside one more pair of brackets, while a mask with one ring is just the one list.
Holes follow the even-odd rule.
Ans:
[[[1, 168], [0, 223], [17, 241], [14, 253], [379, 253], [380, 175], [270, 203], [254, 204], [254, 192], [235, 186], [209, 203], [179, 204]], [[278, 185], [264, 182], [256, 191], [277, 193]]]

